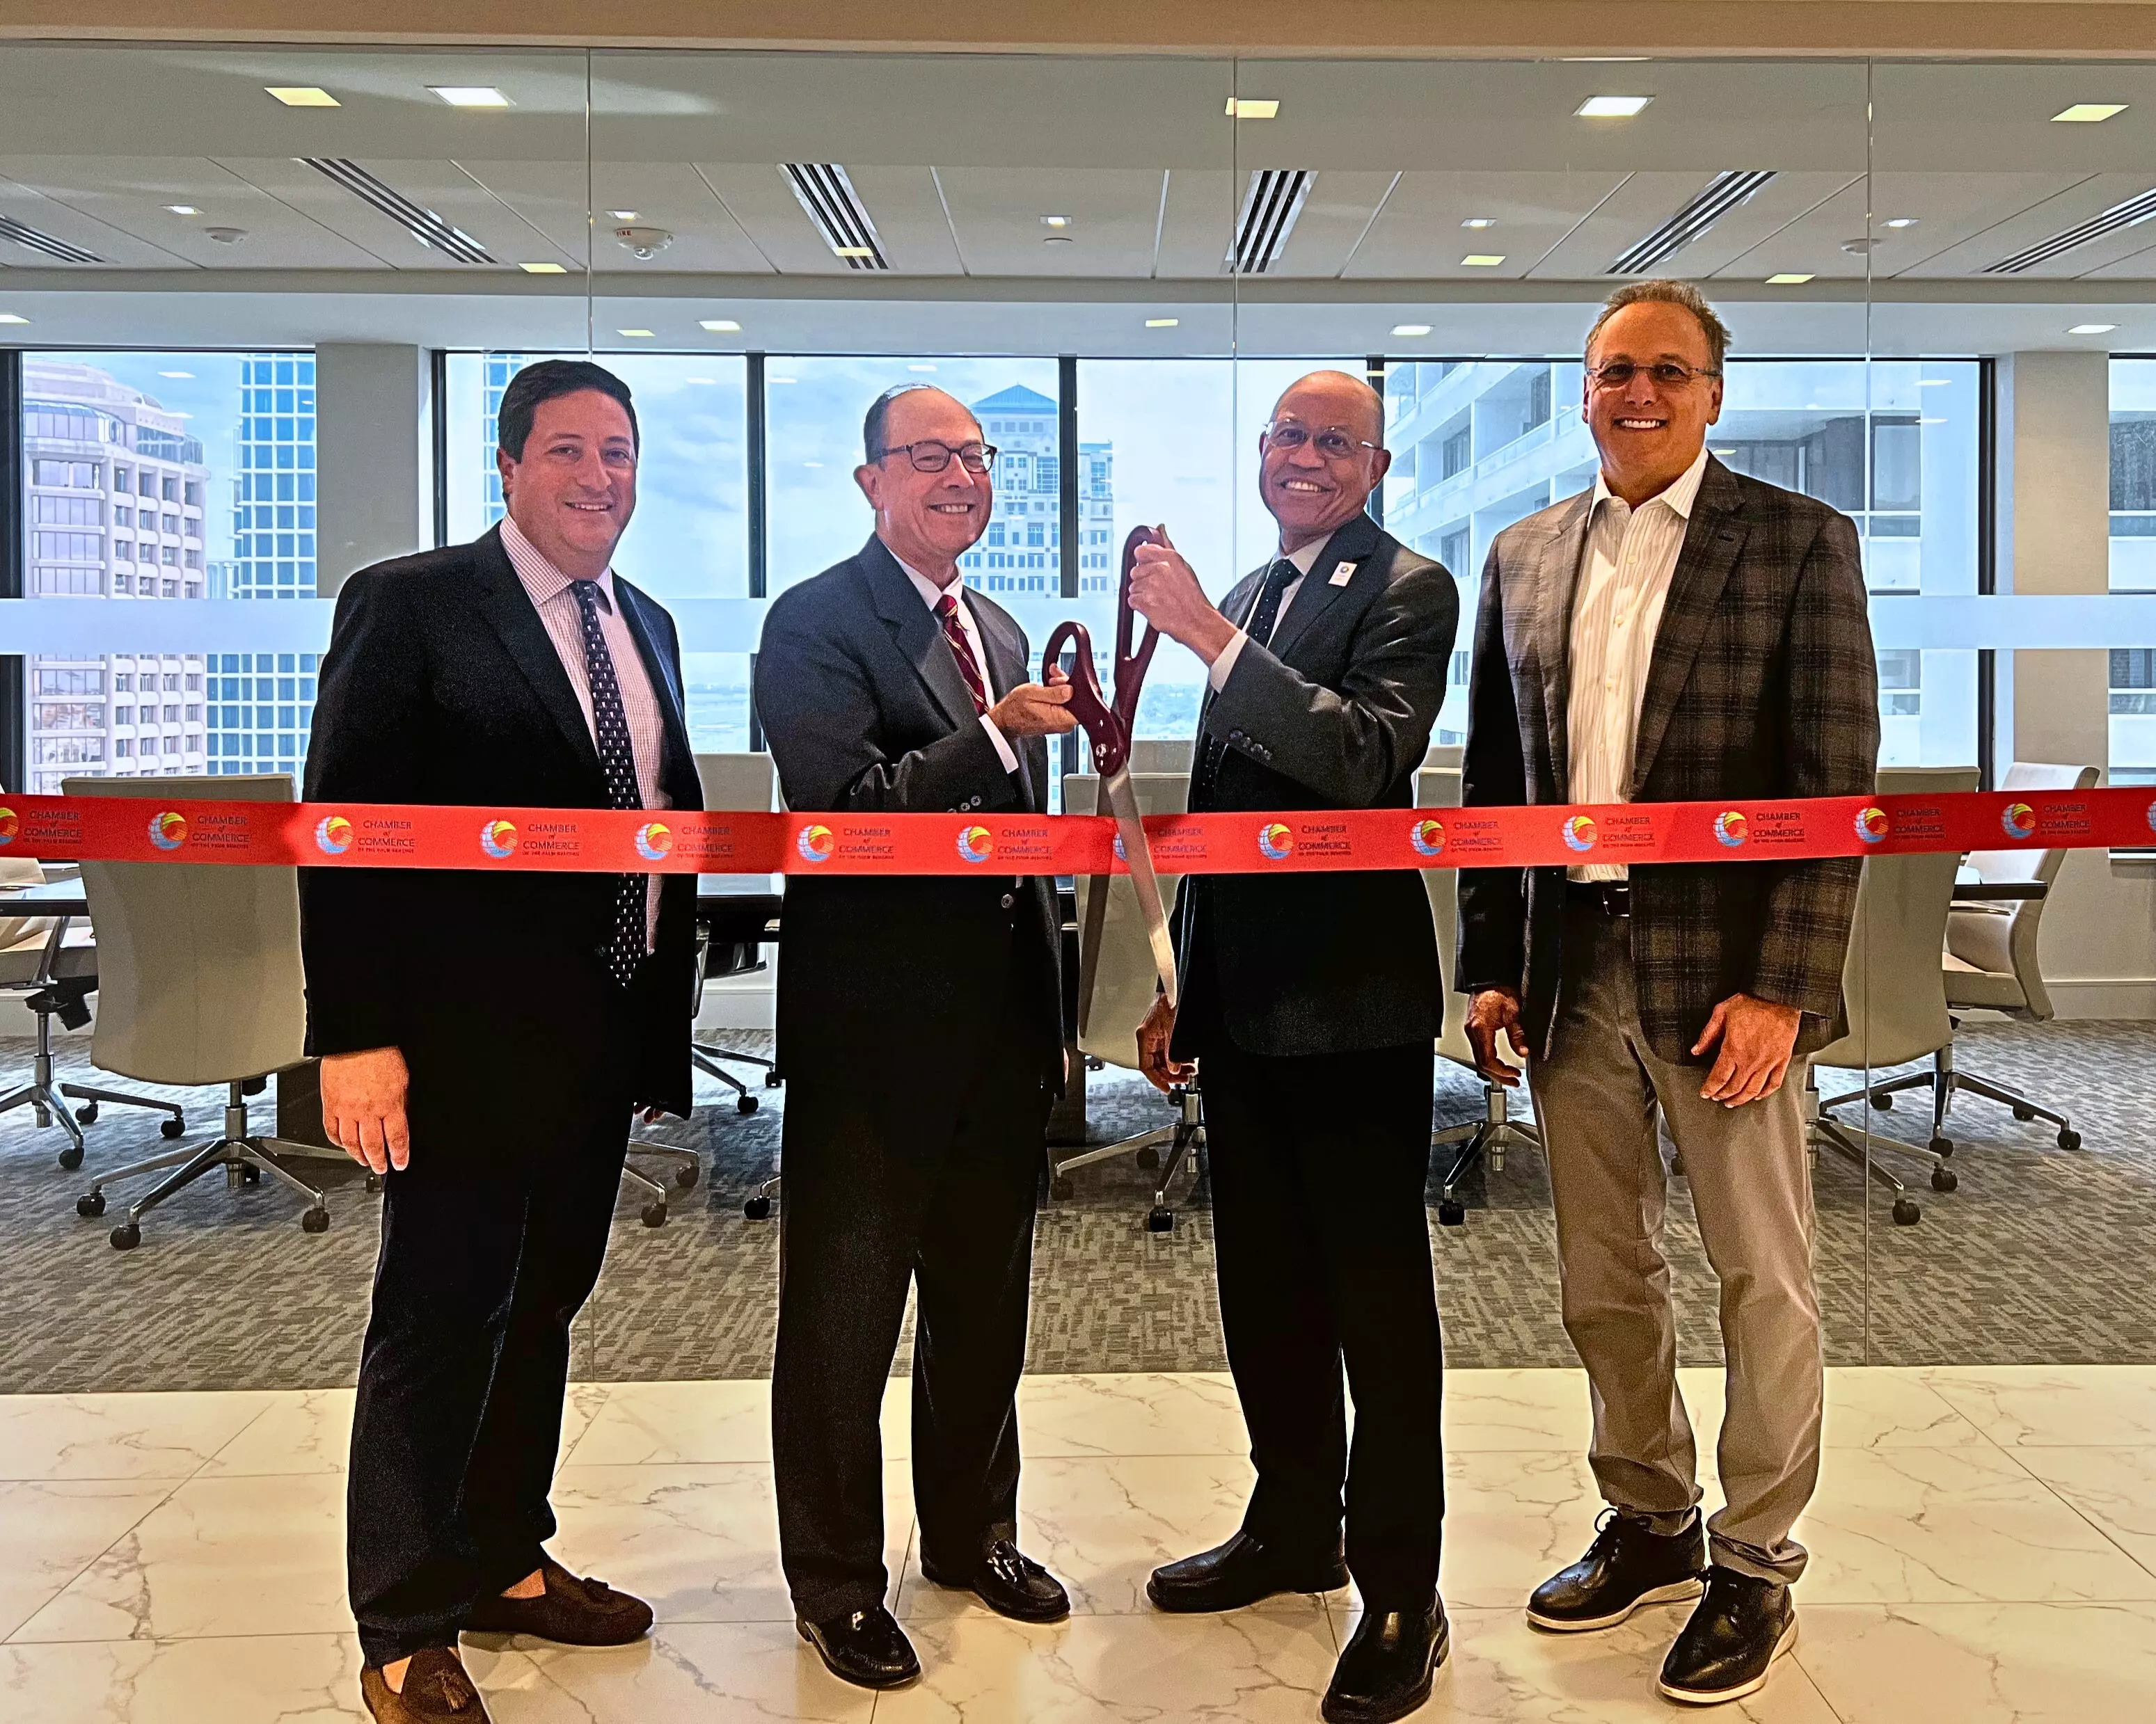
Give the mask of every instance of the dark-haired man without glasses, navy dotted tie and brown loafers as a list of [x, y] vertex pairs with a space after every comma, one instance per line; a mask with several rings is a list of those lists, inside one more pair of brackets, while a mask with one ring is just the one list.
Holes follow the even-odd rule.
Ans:
[[[567, 360], [502, 392], [509, 519], [351, 575], [308, 802], [699, 808], [673, 618], [612, 573], [636, 414]], [[364, 821], [362, 834], [364, 834]], [[308, 1045], [384, 1177], [349, 1577], [382, 1724], [485, 1718], [457, 1631], [619, 1644], [651, 1610], [545, 1554], [569, 1323], [634, 1106], [688, 1114], [692, 875], [302, 868]]]

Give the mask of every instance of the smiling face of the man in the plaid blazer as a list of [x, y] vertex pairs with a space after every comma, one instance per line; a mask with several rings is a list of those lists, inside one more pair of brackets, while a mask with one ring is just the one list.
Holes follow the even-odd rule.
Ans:
[[[1623, 388], [1606, 390], [1593, 373], [1613, 360], [1630, 360], [1639, 371]], [[1580, 403], [1587, 429], [1602, 453], [1602, 476], [1632, 504], [1667, 491], [1699, 459], [1708, 427], [1723, 416], [1720, 377], [1662, 386], [1649, 366], [1664, 360], [1705, 371], [1714, 364], [1714, 349], [1697, 317], [1660, 300], [1641, 300], [1615, 312], [1587, 356]]]

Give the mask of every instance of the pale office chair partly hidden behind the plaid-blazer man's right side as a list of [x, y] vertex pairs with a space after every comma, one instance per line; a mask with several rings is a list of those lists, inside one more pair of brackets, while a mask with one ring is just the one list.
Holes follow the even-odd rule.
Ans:
[[[1975, 767], [1889, 767], [1878, 776], [1880, 795], [1951, 795], [1973, 789], [1977, 789]], [[1958, 1183], [1953, 1168], [1947, 1166], [1953, 1144], [1934, 1134], [1930, 1144], [1917, 1149], [1897, 1138], [1848, 1127], [1833, 1116], [1833, 1110], [1867, 1099], [1880, 1106], [1887, 1090], [1925, 1084], [1930, 1073], [1822, 1099], [1818, 1069], [1824, 1065], [1867, 1073], [1925, 1056], [1936, 1058], [1953, 1045], [1953, 1021], [1947, 1015], [1947, 989], [1936, 953], [1947, 933], [1958, 868], [1960, 858], [1951, 851], [1865, 858], [1856, 884], [1850, 950], [1841, 961], [1839, 1034], [1811, 1056], [1805, 1071], [1805, 1131], [1813, 1153], [1830, 1149], [1891, 1190], [1893, 1218], [1899, 1226], [1915, 1226], [1923, 1211], [1871, 1151], [1887, 1149], [1930, 1164], [1932, 1190], [1951, 1192]]]

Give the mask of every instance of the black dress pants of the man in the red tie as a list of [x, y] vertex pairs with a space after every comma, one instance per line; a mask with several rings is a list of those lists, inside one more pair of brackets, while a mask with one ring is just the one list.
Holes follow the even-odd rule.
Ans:
[[1018, 1532], [1013, 1399], [1050, 1093], [1015, 974], [1007, 998], [979, 1045], [936, 1049], [903, 1084], [787, 1073], [772, 1459], [780, 1560], [808, 1623], [869, 1610], [890, 1584], [880, 1412], [908, 1284], [921, 1558], [970, 1573]]

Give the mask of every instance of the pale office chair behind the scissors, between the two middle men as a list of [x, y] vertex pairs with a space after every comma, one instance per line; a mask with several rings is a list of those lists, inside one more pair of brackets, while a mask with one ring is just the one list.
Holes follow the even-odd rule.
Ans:
[[[1190, 806], [1188, 771], [1134, 771], [1132, 789], [1138, 793], [1138, 812], [1179, 815]], [[1100, 780], [1093, 774], [1069, 774], [1063, 778], [1063, 806], [1069, 810], [1091, 810], [1100, 797]], [[1175, 890], [1181, 875], [1160, 877], [1160, 896], [1175, 914]], [[1093, 974], [1093, 1004], [1087, 1013], [1084, 1034], [1078, 1052], [1089, 1065], [1117, 1065], [1125, 1071], [1138, 1069], [1138, 1024], [1153, 1009], [1158, 976], [1153, 972], [1153, 948], [1145, 935], [1145, 918], [1138, 914], [1138, 892], [1130, 875], [1078, 875], [1078, 927], [1084, 929], [1087, 905], [1102, 886], [1108, 888], [1108, 916], [1100, 935], [1100, 968]], [[1084, 989], [1087, 978], [1078, 978]], [[1171, 1090], [1175, 1121], [1156, 1125], [1134, 1138], [1082, 1149], [1076, 1155], [1050, 1155], [1048, 1194], [1065, 1200], [1076, 1194], [1072, 1172], [1112, 1162], [1128, 1155], [1141, 1168], [1158, 1168], [1153, 1181], [1153, 1207], [1145, 1215], [1149, 1233], [1169, 1233], [1175, 1226], [1175, 1209], [1169, 1207], [1169, 1190], [1181, 1164], [1205, 1146], [1205, 1106], [1199, 1084], [1181, 1084]], [[1166, 1149], [1166, 1155], [1162, 1155]]]

